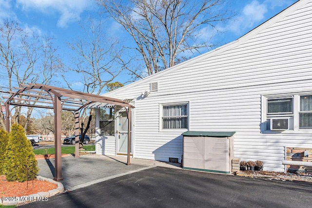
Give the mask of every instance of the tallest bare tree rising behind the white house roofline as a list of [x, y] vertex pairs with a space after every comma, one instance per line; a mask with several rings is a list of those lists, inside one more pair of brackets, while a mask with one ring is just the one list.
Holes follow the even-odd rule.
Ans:
[[213, 33], [211, 37], [206, 33], [217, 31], [218, 23], [234, 15], [222, 7], [224, 0], [96, 1], [136, 42], [148, 75], [190, 58], [201, 48], [214, 47]]

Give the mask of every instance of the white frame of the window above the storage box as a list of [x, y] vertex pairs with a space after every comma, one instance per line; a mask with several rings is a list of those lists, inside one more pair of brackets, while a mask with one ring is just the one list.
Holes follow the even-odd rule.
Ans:
[[[186, 105], [187, 109], [187, 128], [181, 129], [164, 129], [163, 128], [163, 106], [177, 106], [177, 105]], [[159, 103], [159, 132], [186, 132], [190, 129], [190, 102], [176, 102], [176, 103]]]

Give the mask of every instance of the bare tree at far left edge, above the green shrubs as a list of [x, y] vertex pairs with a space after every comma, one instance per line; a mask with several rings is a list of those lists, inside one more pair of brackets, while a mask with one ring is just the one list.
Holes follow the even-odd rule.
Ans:
[[[0, 76], [1, 91], [6, 95], [12, 95], [13, 87], [21, 87], [27, 82], [39, 82], [49, 84], [52, 77], [62, 68], [61, 60], [52, 45], [53, 38], [40, 37], [38, 34], [23, 29], [18, 21], [4, 19], [0, 24]], [[19, 104], [20, 100], [13, 101]], [[1, 103], [4, 102], [0, 98]], [[27, 104], [34, 104], [33, 101]], [[12, 122], [20, 122], [22, 107], [15, 107], [11, 116]], [[28, 107], [24, 128], [27, 129], [33, 108]], [[1, 112], [2, 114], [2, 112]], [[0, 125], [5, 127], [3, 114], [0, 117]]]

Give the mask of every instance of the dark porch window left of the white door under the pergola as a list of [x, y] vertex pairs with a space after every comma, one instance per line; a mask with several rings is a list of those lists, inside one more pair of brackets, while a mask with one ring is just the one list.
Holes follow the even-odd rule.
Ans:
[[100, 135], [115, 135], [115, 110], [114, 108], [105, 108], [100, 110], [99, 128]]

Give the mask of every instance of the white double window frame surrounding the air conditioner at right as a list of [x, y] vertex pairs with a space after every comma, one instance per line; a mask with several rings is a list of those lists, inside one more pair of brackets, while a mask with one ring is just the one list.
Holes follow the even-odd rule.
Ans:
[[[268, 128], [268, 119], [270, 118], [289, 118], [289, 130], [280, 131], [280, 133], [296, 133], [296, 132], [312, 132], [312, 128], [299, 128], [299, 112], [300, 112], [300, 96], [312, 95], [312, 92], [293, 93], [293, 94], [277, 94], [261, 96], [261, 132], [262, 133], [278, 133], [279, 131], [271, 131]], [[292, 97], [292, 113], [285, 114], [269, 114], [268, 115], [268, 99], [289, 98]]]

